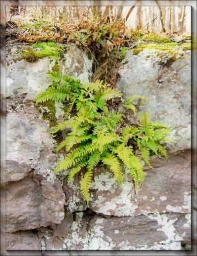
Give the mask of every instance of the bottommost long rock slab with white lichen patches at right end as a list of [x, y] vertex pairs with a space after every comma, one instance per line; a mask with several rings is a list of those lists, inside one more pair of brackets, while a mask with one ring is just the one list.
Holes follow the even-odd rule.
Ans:
[[191, 240], [189, 217], [179, 213], [95, 215], [88, 222], [83, 212], [78, 212], [70, 233], [61, 240], [62, 250], [181, 250], [182, 244]]

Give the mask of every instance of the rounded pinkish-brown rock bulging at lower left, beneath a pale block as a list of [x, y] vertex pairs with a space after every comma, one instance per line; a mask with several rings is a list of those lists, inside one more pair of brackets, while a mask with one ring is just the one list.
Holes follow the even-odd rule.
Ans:
[[65, 195], [58, 179], [52, 184], [44, 179], [40, 182], [35, 177], [26, 177], [8, 184], [6, 186], [7, 232], [61, 223], [65, 216], [64, 202]]

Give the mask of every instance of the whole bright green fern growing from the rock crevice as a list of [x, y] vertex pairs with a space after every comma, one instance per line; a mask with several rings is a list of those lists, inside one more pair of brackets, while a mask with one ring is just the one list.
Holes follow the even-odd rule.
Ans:
[[[36, 97], [36, 102], [58, 100], [69, 104], [67, 117], [51, 131], [54, 134], [70, 129], [56, 148], [57, 152], [64, 148], [67, 156], [59, 161], [54, 172], [69, 170], [68, 182], [77, 173], [85, 172], [80, 189], [87, 202], [90, 201], [93, 171], [98, 164], [106, 165], [120, 185], [124, 168], [129, 169], [135, 189], [138, 189], [144, 179], [142, 159], [152, 168], [150, 156], [167, 157], [161, 142], [166, 140], [169, 127], [150, 122], [148, 113], [139, 115], [138, 126], [124, 127], [123, 113], [109, 110], [107, 105], [108, 100], [121, 98], [121, 92], [102, 81], [82, 84], [78, 79], [58, 72], [49, 73], [49, 77], [51, 86]], [[144, 99], [142, 95], [132, 96], [125, 102], [125, 108], [135, 111], [134, 105], [130, 104], [136, 98]], [[141, 156], [136, 155], [136, 150], [140, 150]]]

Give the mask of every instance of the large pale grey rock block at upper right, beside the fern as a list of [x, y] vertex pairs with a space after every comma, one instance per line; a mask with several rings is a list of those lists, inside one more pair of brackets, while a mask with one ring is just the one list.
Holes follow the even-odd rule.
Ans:
[[149, 111], [153, 121], [172, 127], [171, 138], [174, 141], [168, 143], [172, 152], [191, 148], [190, 51], [174, 62], [167, 62], [168, 65], [162, 63], [164, 58], [159, 58], [157, 52], [145, 49], [138, 55], [132, 55], [127, 51], [119, 70], [118, 88], [125, 98], [138, 94], [147, 97], [138, 109]]

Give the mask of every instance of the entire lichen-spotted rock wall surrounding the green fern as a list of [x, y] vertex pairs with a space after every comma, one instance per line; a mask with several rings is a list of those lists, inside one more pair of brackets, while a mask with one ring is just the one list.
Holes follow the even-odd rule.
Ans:
[[[155, 50], [128, 51], [119, 70], [118, 88], [125, 98], [147, 96], [139, 111], [171, 125], [169, 160], [152, 159], [145, 181], [134, 193], [125, 173], [118, 187], [102, 166], [95, 172], [87, 205], [79, 192], [80, 175], [72, 184], [52, 172], [61, 154], [33, 99], [49, 85], [54, 60], [17, 61], [7, 52], [7, 250], [188, 250], [191, 244], [190, 52], [168, 61]], [[10, 51], [9, 51], [10, 49]], [[15, 61], [13, 61], [15, 60]], [[164, 65], [164, 62], [165, 65]], [[64, 74], [88, 81], [92, 61], [69, 47], [61, 61]], [[132, 120], [131, 120], [132, 121]]]

